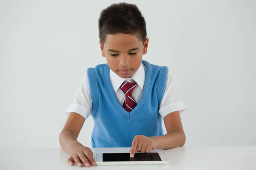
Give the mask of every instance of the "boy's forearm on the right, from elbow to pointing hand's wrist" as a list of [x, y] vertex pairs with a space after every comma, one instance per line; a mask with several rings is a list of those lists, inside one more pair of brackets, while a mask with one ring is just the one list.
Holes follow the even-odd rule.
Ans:
[[156, 139], [156, 149], [171, 149], [175, 147], [182, 147], [185, 144], [186, 136], [182, 131], [171, 131], [163, 136], [153, 136]]

